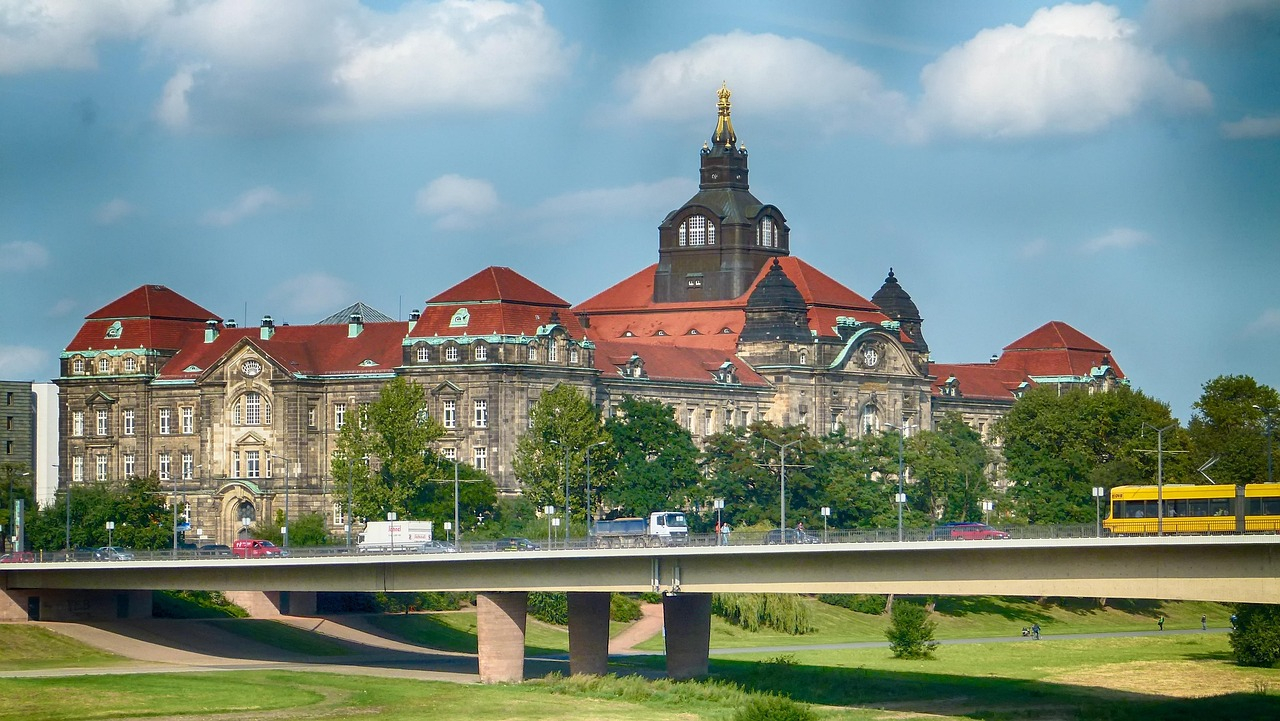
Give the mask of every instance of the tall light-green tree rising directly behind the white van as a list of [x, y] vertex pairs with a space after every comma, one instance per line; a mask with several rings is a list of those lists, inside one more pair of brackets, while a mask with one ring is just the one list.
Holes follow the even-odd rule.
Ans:
[[411, 501], [429, 484], [426, 452], [444, 435], [426, 412], [422, 387], [403, 377], [383, 385], [378, 400], [356, 409], [338, 433], [333, 475], [352, 483], [353, 516], [410, 519]]

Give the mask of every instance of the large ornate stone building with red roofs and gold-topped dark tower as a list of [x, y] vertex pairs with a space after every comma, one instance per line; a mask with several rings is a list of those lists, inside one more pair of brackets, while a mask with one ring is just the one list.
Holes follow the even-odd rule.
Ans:
[[340, 528], [337, 433], [396, 375], [426, 389], [439, 450], [509, 492], [530, 410], [562, 383], [607, 415], [626, 396], [660, 400], [700, 441], [755, 420], [928, 429], [947, 411], [986, 432], [1030, 384], [1124, 378], [1062, 323], [957, 365], [931, 362], [922, 324], [892, 271], [867, 300], [791, 255], [781, 210], [750, 192], [722, 88], [699, 191], [659, 225], [658, 263], [577, 306], [494, 266], [408, 320], [357, 304], [315, 325], [237, 328], [163, 286], [90, 314], [61, 355], [61, 480], [156, 473], [192, 528], [225, 542], [287, 492], [292, 515]]

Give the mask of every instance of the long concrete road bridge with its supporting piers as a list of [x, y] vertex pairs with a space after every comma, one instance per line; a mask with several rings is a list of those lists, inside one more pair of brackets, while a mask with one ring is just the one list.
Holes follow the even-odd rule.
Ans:
[[710, 594], [1064, 595], [1280, 603], [1280, 535], [941, 540], [564, 549], [0, 566], [0, 619], [151, 613], [151, 590], [264, 592], [315, 612], [316, 592], [476, 592], [483, 681], [524, 677], [529, 592], [567, 592], [570, 668], [604, 674], [609, 593], [660, 592], [667, 672], [708, 670]]

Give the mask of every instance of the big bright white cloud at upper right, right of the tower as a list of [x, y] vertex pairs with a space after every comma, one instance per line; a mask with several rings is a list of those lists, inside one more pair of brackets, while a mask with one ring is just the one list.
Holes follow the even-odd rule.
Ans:
[[1098, 131], [1148, 106], [1203, 110], [1203, 83], [1142, 46], [1110, 5], [1062, 4], [980, 31], [920, 72], [918, 132], [1016, 138]]

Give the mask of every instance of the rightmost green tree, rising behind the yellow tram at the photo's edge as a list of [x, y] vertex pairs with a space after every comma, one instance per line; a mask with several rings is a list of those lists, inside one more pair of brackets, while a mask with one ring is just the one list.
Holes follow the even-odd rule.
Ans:
[[[1187, 426], [1197, 466], [1217, 458], [1208, 474], [1239, 485], [1267, 478], [1267, 414], [1280, 421], [1280, 394], [1248, 375], [1220, 375], [1204, 384]], [[1272, 439], [1274, 442], [1275, 439]]]

